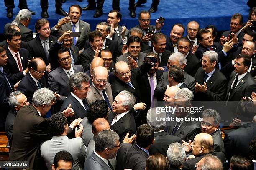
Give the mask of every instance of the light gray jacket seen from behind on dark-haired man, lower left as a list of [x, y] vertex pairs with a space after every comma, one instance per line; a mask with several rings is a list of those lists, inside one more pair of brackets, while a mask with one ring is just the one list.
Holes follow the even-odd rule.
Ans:
[[[51, 148], [51, 149], [49, 149]], [[83, 162], [87, 148], [84, 145], [81, 138], [69, 139], [65, 136], [54, 136], [51, 140], [47, 140], [40, 145], [41, 155], [43, 156], [48, 170], [51, 170], [54, 156], [57, 152], [66, 150], [68, 151], [73, 159], [73, 170], [82, 170]]]

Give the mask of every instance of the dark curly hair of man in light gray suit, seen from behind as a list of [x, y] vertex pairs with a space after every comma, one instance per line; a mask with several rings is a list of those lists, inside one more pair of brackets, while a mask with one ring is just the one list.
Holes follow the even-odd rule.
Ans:
[[67, 118], [63, 113], [55, 113], [49, 118], [51, 133], [54, 136], [59, 136], [63, 133]]

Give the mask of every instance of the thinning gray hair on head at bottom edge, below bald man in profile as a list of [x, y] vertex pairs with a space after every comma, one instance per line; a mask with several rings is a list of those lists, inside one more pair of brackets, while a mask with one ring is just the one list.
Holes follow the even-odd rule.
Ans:
[[204, 161], [201, 170], [223, 170], [221, 160], [215, 155], [207, 154], [201, 160]]

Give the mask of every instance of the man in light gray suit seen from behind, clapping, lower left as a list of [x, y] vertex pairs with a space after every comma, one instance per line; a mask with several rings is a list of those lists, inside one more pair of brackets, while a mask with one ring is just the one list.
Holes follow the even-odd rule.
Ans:
[[53, 137], [51, 140], [47, 140], [40, 145], [41, 156], [44, 158], [48, 170], [51, 170], [54, 156], [61, 150], [66, 150], [72, 155], [74, 159], [74, 170], [82, 170], [82, 163], [85, 160], [87, 151], [81, 138], [83, 126], [80, 124], [79, 129], [75, 129], [76, 138], [69, 139], [67, 137], [69, 126], [67, 124], [67, 118], [63, 113], [52, 115], [49, 118], [49, 122]]

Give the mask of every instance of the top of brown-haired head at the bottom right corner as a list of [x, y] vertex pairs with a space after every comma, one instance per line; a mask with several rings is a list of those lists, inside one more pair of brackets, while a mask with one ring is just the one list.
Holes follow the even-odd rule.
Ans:
[[254, 164], [252, 160], [244, 156], [235, 155], [230, 159], [230, 168], [232, 170], [254, 170]]

